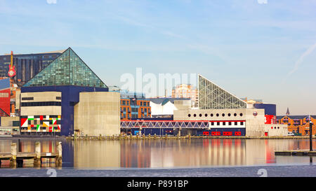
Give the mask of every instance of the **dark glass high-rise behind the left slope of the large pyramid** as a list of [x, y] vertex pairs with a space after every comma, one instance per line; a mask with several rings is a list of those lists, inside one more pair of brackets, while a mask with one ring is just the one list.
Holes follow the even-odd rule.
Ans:
[[[16, 75], [13, 78], [18, 85], [24, 85], [65, 50], [32, 54], [13, 55]], [[0, 77], [8, 77], [11, 55], [0, 55]]]

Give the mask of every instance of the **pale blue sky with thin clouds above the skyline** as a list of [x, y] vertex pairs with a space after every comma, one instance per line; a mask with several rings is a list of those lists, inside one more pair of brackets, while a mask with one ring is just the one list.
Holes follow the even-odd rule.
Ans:
[[0, 0], [0, 55], [71, 47], [107, 85], [199, 73], [237, 97], [316, 115], [316, 0]]

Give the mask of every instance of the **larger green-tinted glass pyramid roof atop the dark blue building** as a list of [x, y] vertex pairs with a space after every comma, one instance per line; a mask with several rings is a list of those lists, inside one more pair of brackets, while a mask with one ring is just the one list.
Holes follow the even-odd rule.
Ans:
[[24, 87], [77, 85], [84, 87], [107, 87], [82, 59], [68, 48], [51, 64], [29, 80]]

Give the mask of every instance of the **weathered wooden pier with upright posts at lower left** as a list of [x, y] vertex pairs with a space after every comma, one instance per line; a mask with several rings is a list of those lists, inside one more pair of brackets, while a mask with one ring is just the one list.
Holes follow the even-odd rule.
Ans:
[[34, 160], [34, 167], [41, 167], [43, 158], [55, 159], [56, 166], [60, 166], [62, 164], [61, 142], [57, 143], [56, 153], [41, 153], [40, 142], [35, 143], [34, 153], [18, 152], [17, 143], [11, 143], [11, 152], [0, 153], [0, 167], [3, 160], [10, 160], [10, 167], [22, 167], [23, 160]]

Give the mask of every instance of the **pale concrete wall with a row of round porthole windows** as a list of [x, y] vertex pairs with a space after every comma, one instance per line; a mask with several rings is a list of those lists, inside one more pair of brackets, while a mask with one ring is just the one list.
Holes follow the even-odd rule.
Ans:
[[[234, 115], [235, 113], [236, 116]], [[256, 113], [256, 115], [254, 115], [254, 113]], [[213, 114], [213, 117], [211, 117], [211, 114]], [[216, 114], [218, 114], [218, 116], [216, 116]], [[194, 117], [194, 115], [196, 116]], [[173, 112], [173, 120], [246, 120], [246, 136], [264, 136], [265, 134], [264, 109], [178, 110]]]

